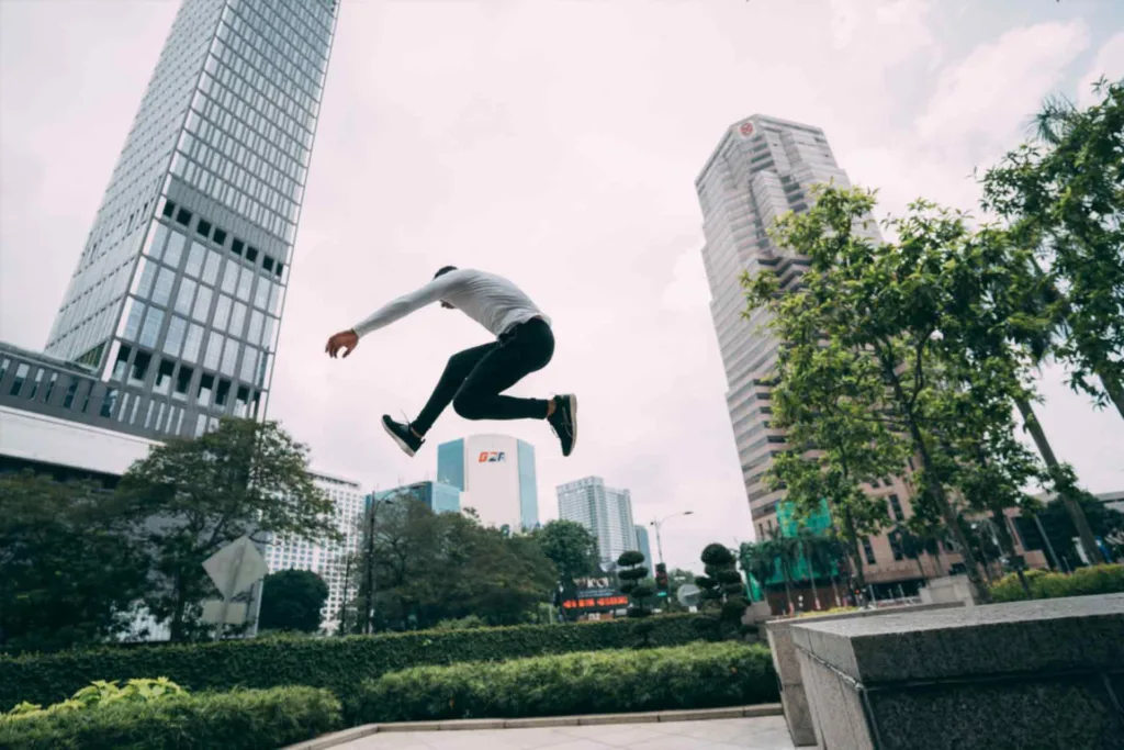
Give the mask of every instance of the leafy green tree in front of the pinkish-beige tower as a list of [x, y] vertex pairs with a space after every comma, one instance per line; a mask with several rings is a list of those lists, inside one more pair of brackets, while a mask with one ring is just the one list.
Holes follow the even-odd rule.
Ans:
[[[896, 242], [879, 242], [870, 231], [873, 206], [869, 191], [826, 188], [809, 211], [785, 217], [777, 242], [806, 257], [808, 270], [800, 288], [785, 293], [769, 270], [746, 277], [750, 306], [772, 315], [794, 395], [805, 382], [813, 398], [834, 388], [849, 405], [844, 424], [872, 423], [908, 441], [921, 461], [914, 506], [931, 506], [942, 519], [986, 602], [954, 490], [981, 436], [1013, 433], [1012, 404], [1027, 394], [1026, 363], [996, 319], [1005, 307], [992, 304], [1022, 283], [1025, 263], [1009, 243], [969, 229], [964, 215], [925, 201], [887, 223]], [[981, 356], [985, 350], [994, 355]]]

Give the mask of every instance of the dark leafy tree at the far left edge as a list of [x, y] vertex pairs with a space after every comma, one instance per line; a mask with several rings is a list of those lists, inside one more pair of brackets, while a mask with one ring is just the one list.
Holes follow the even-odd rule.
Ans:
[[0, 650], [47, 651], [128, 630], [148, 560], [112, 493], [0, 475]]

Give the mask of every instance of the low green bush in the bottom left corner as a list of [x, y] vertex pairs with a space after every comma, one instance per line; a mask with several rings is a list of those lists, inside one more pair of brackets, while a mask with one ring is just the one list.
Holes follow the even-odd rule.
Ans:
[[83, 711], [0, 717], [0, 748], [20, 750], [274, 750], [343, 725], [328, 690], [282, 687], [110, 702]]

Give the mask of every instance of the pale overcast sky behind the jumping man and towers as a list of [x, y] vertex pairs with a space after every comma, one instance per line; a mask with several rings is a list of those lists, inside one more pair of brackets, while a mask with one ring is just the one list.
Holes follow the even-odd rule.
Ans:
[[[0, 338], [45, 344], [178, 4], [0, 0]], [[724, 129], [817, 125], [882, 214], [971, 208], [971, 169], [1103, 73], [1124, 75], [1120, 0], [344, 0], [270, 416], [371, 488], [433, 478], [439, 442], [508, 432], [537, 449], [545, 518], [559, 484], [598, 475], [638, 523], [694, 509], [663, 541], [697, 568], [704, 544], [752, 534], [694, 190]], [[457, 313], [324, 356], [445, 264], [511, 278], [554, 319], [554, 361], [514, 392], [579, 395], [571, 458], [545, 424], [452, 410], [416, 459], [389, 442], [379, 416], [416, 414], [448, 354], [488, 341]], [[1042, 391], [1086, 487], [1124, 488], [1124, 422], [1060, 372]]]

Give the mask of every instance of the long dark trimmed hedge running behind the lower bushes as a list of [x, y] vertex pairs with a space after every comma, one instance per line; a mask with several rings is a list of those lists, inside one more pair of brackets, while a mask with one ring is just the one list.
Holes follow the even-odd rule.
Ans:
[[[704, 638], [697, 615], [646, 620], [652, 645]], [[504, 661], [574, 651], [627, 649], [642, 635], [632, 620], [573, 625], [517, 625], [347, 638], [269, 638], [146, 648], [0, 656], [0, 711], [21, 701], [57, 703], [96, 679], [163, 675], [189, 690], [283, 685], [326, 687], [344, 697], [361, 678], [420, 665]]]

